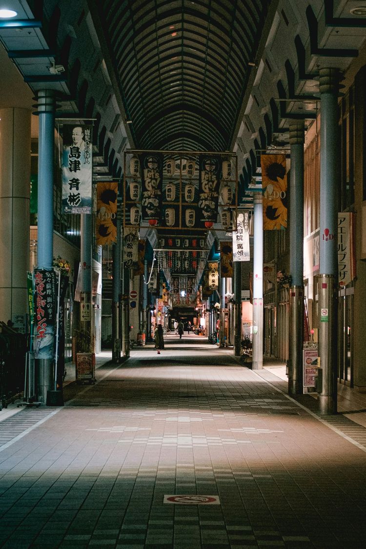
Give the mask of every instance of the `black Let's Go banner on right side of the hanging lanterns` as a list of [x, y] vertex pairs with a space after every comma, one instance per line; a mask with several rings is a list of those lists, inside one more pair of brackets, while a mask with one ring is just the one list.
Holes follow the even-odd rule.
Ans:
[[204, 222], [207, 226], [217, 221], [221, 158], [219, 156], [200, 155], [199, 165], [199, 216], [200, 222]]

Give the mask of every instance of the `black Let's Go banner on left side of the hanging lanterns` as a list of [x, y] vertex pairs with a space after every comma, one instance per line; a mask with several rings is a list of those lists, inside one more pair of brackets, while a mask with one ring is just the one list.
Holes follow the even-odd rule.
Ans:
[[161, 219], [162, 154], [143, 154], [142, 163], [142, 217], [146, 220]]

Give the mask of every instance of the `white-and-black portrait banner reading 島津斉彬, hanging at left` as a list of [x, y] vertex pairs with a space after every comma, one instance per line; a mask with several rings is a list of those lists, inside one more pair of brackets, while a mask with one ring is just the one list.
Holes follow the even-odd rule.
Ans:
[[63, 211], [91, 214], [92, 126], [64, 124], [63, 141]]

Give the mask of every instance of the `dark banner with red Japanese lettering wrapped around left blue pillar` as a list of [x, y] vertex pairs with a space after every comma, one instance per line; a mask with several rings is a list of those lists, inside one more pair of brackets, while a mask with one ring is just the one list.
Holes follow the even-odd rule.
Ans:
[[54, 358], [55, 273], [36, 269], [35, 284], [35, 358]]

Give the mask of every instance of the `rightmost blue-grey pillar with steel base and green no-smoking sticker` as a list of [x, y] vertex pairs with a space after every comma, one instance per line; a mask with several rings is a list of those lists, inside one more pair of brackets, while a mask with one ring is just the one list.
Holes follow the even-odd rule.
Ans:
[[320, 269], [319, 295], [319, 410], [323, 414], [337, 411], [337, 188], [339, 186], [338, 93], [337, 69], [320, 69]]

